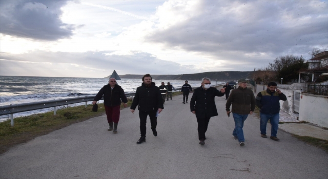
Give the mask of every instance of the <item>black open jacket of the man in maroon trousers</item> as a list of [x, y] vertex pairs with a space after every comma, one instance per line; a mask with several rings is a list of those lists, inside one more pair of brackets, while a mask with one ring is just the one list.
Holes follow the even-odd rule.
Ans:
[[121, 99], [124, 103], [128, 102], [127, 97], [125, 96], [124, 90], [121, 86], [115, 84], [112, 89], [109, 84], [105, 85], [100, 89], [98, 94], [94, 97], [94, 101], [99, 101], [104, 96], [104, 105], [105, 106], [118, 106], [121, 104]]

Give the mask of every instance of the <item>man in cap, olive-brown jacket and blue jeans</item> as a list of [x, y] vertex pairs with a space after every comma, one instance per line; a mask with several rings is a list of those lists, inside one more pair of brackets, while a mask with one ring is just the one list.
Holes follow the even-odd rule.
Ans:
[[245, 145], [242, 127], [248, 115], [252, 115], [255, 109], [255, 96], [252, 89], [247, 88], [247, 80], [238, 80], [238, 88], [233, 89], [226, 103], [227, 115], [230, 115], [230, 105], [232, 103], [232, 116], [235, 120], [235, 129], [232, 136], [238, 140], [239, 145]]

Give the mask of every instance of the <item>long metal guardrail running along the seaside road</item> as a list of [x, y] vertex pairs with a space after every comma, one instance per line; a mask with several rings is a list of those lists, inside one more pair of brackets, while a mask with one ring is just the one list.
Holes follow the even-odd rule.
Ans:
[[[218, 86], [212, 85], [213, 87]], [[193, 87], [195, 89], [197, 87]], [[176, 88], [176, 91], [181, 90], [181, 88]], [[135, 96], [135, 93], [126, 93], [127, 97]], [[14, 125], [14, 117], [13, 114], [15, 113], [22, 113], [25, 111], [30, 110], [37, 110], [37, 109], [44, 109], [44, 108], [50, 108], [53, 107], [54, 109], [54, 115], [56, 115], [56, 107], [57, 106], [63, 106], [68, 104], [74, 104], [74, 103], [81, 103], [85, 102], [85, 106], [87, 107], [88, 101], [93, 101], [95, 96], [84, 96], [84, 97], [76, 97], [76, 98], [67, 98], [67, 99], [57, 99], [57, 100], [50, 100], [50, 101], [39, 101], [39, 102], [32, 102], [32, 103], [22, 103], [22, 104], [11, 104], [6, 106], [0, 106], [0, 116], [3, 115], [10, 115], [11, 119], [11, 126]], [[102, 100], [101, 98], [100, 100]]]

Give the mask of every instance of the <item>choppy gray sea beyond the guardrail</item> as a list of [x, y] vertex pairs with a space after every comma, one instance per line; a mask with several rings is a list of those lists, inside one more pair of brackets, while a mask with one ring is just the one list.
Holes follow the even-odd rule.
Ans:
[[[170, 82], [175, 88], [181, 88], [185, 80], [153, 79], [157, 86], [161, 82]], [[117, 80], [126, 93], [135, 92], [141, 85], [141, 79]], [[192, 87], [200, 86], [200, 81], [189, 81]], [[214, 82], [213, 84], [223, 83]], [[66, 99], [79, 96], [95, 96], [101, 87], [108, 84], [108, 78], [69, 78], [69, 77], [28, 77], [28, 76], [0, 76], [0, 106], [22, 104], [55, 99]], [[99, 101], [100, 103], [103, 101]], [[70, 106], [84, 105], [71, 104]], [[91, 104], [91, 101], [88, 102]], [[53, 108], [38, 109], [13, 114], [15, 117], [52, 111]], [[10, 115], [0, 116], [0, 122], [10, 119]]]

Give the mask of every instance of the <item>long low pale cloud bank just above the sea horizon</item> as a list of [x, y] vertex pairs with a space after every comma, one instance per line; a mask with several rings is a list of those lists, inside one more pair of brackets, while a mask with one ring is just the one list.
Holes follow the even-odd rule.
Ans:
[[[166, 61], [157, 59], [149, 53], [136, 53], [134, 55], [106, 55], [111, 51], [103, 52], [85, 52], [85, 53], [68, 53], [68, 52], [45, 52], [45, 51], [33, 51], [26, 54], [0, 54], [2, 61], [1, 75], [12, 75], [6, 69], [12, 69], [13, 62], [16, 62], [15, 71], [25, 71], [27, 63], [32, 65], [33, 63], [53, 63], [54, 68], [60, 64], [66, 66], [68, 69], [71, 66], [79, 65], [81, 70], [96, 72], [94, 77], [104, 77], [110, 75], [113, 70], [119, 72], [119, 74], [181, 74], [190, 73], [194, 68], [193, 65], [183, 66], [172, 61]], [[38, 65], [42, 66], [42, 65]], [[18, 69], [17, 69], [18, 68]], [[44, 71], [46, 68], [44, 68]], [[31, 71], [32, 72], [32, 71]], [[199, 71], [194, 71], [199, 72]], [[8, 74], [9, 73], [9, 74]], [[74, 74], [74, 71], [70, 72]], [[110, 74], [109, 74], [110, 73]], [[91, 74], [89, 74], [91, 75]], [[51, 76], [56, 76], [52, 74]], [[86, 77], [88, 75], [86, 74]]]

